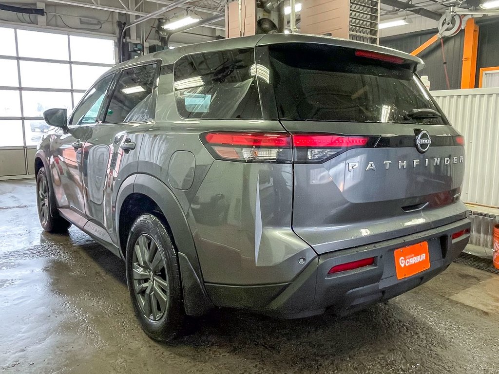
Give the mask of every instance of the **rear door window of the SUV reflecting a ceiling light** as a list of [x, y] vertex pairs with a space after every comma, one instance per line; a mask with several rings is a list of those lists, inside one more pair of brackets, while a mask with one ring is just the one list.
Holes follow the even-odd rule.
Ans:
[[109, 103], [105, 123], [142, 122], [154, 119], [153, 90], [158, 64], [132, 67], [121, 73]]

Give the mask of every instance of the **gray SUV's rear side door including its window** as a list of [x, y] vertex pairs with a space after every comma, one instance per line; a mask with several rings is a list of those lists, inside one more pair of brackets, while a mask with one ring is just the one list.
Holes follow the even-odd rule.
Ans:
[[123, 69], [104, 102], [100, 121], [88, 132], [83, 188], [89, 229], [106, 242], [117, 243], [113, 196], [121, 182], [137, 173], [140, 133], [154, 119], [159, 63]]

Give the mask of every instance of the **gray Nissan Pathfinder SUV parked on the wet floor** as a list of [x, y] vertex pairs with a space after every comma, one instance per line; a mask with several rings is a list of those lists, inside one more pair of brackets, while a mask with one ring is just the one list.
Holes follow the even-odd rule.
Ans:
[[126, 262], [145, 332], [214, 307], [346, 314], [446, 269], [469, 240], [463, 137], [377, 45], [266, 34], [119, 64], [35, 158], [40, 222]]

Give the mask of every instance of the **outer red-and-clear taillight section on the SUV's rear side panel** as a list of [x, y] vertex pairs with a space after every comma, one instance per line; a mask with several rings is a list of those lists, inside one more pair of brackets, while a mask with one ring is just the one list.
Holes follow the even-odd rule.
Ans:
[[213, 132], [201, 136], [212, 156], [239, 162], [291, 163], [288, 133]]

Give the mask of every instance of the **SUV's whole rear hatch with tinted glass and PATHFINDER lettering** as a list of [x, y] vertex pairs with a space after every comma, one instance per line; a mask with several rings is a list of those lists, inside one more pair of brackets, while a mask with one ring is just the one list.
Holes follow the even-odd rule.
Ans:
[[292, 225], [318, 253], [466, 216], [463, 138], [417, 61], [311, 43], [268, 53], [278, 116], [293, 134]]

